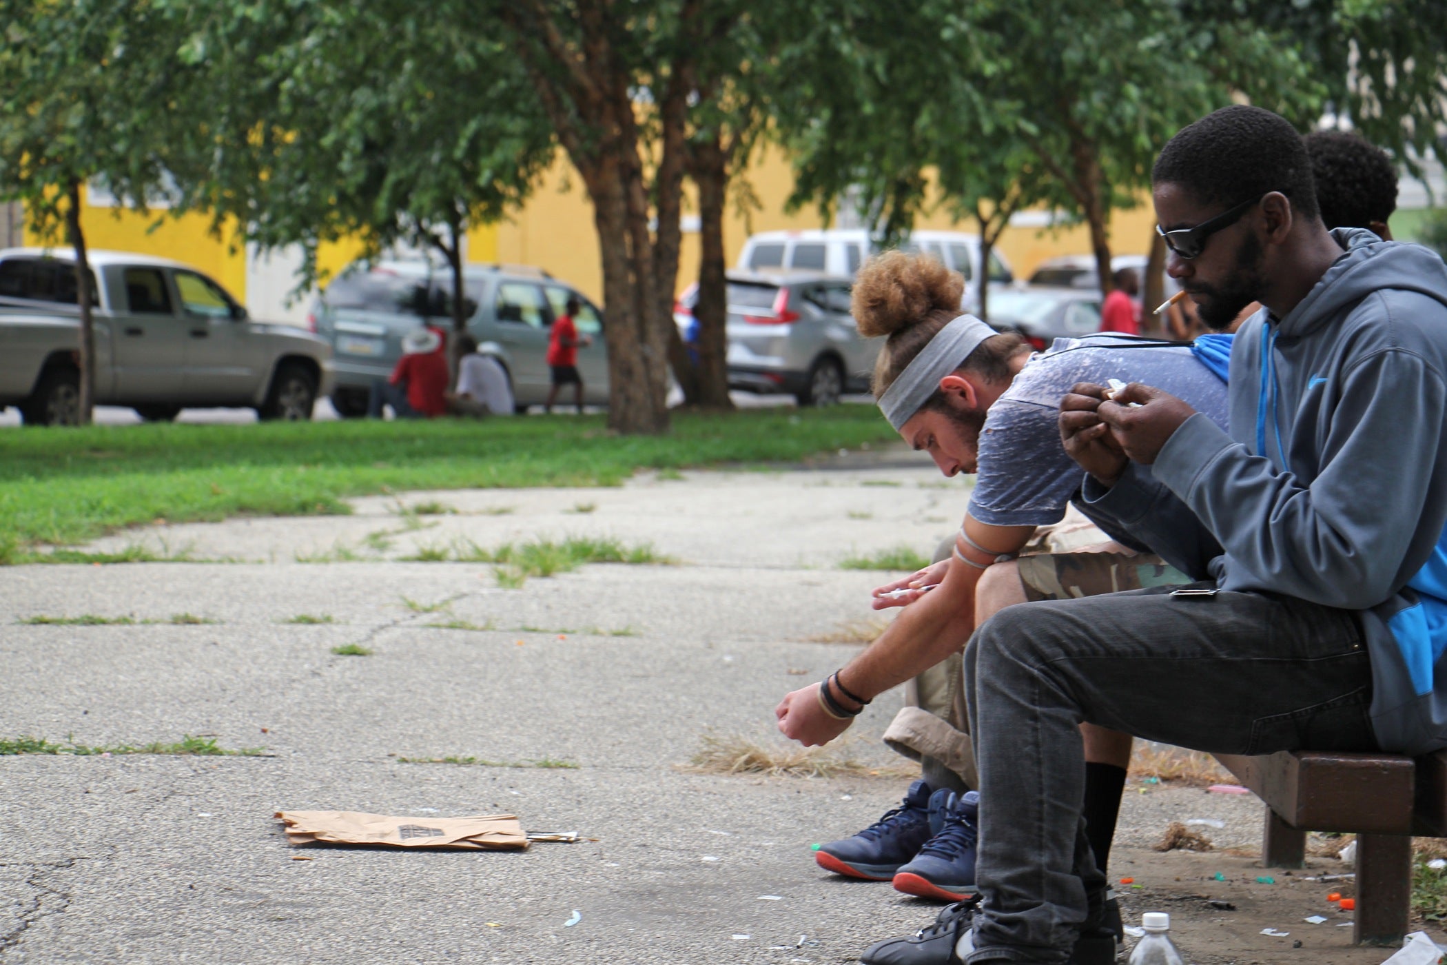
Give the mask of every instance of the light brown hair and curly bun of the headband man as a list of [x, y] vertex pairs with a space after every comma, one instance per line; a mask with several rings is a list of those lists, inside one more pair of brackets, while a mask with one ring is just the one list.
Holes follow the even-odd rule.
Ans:
[[[851, 310], [861, 336], [887, 336], [874, 363], [871, 391], [875, 398], [941, 328], [962, 314], [959, 299], [964, 294], [965, 279], [929, 255], [884, 252], [864, 263], [854, 279]], [[980, 343], [968, 359], [961, 359], [959, 369], [987, 382], [1009, 382], [1010, 359], [1022, 350], [1027, 350], [1024, 339], [1001, 333]], [[923, 408], [939, 404], [936, 391]]]

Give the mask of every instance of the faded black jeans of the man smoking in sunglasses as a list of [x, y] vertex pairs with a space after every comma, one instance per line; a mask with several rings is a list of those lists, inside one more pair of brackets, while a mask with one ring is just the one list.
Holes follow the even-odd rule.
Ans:
[[969, 962], [1065, 962], [1100, 904], [1106, 881], [1081, 833], [1082, 720], [1227, 754], [1376, 749], [1350, 612], [1169, 592], [1022, 603], [971, 638], [984, 906]]

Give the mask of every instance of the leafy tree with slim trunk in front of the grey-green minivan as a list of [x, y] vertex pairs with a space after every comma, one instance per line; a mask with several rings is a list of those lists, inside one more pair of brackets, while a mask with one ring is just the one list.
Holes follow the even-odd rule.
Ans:
[[218, 9], [182, 54], [232, 95], [201, 185], [213, 217], [262, 249], [300, 245], [301, 285], [326, 242], [440, 256], [460, 331], [467, 230], [519, 205], [556, 145], [498, 30], [453, 13], [259, 0]]

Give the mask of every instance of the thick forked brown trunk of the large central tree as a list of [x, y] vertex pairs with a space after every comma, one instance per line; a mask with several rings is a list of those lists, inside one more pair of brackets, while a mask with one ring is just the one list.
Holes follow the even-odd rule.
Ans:
[[682, 245], [689, 107], [700, 51], [725, 42], [722, 0], [495, 0], [473, 16], [509, 29], [554, 132], [593, 203], [608, 313], [609, 427], [663, 433]]

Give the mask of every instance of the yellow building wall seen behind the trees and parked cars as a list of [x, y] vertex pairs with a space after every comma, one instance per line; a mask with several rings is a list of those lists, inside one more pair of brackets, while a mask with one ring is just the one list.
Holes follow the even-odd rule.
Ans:
[[[813, 207], [786, 213], [784, 201], [793, 190], [793, 172], [780, 149], [760, 148], [744, 178], [760, 207], [741, 213], [734, 200], [738, 190], [731, 194], [724, 224], [724, 250], [729, 266], [738, 259], [751, 231], [829, 227]], [[1117, 255], [1140, 255], [1147, 250], [1155, 216], [1149, 198], [1143, 197], [1142, 201], [1142, 205], [1113, 216], [1111, 242]], [[195, 265], [245, 302], [246, 256], [240, 245], [232, 250], [232, 245], [237, 242], [234, 229], [227, 226], [217, 239], [208, 231], [208, 218], [182, 214], [177, 218], [164, 217], [159, 227], [149, 230], [164, 214], [140, 216], [87, 204], [82, 223], [91, 247], [140, 252]], [[680, 291], [697, 278], [696, 216], [697, 205], [690, 192], [684, 198], [684, 217], [693, 223], [693, 230], [683, 234], [676, 285]], [[974, 231], [972, 221], [956, 223], [945, 211], [922, 217], [917, 227]], [[27, 245], [41, 243], [30, 231], [25, 237]], [[1088, 253], [1090, 234], [1084, 226], [1058, 230], [1011, 227], [1001, 236], [1000, 250], [1016, 275], [1024, 278], [1046, 258]], [[357, 243], [323, 245], [318, 253], [323, 278], [334, 276], [359, 252]], [[602, 268], [592, 204], [582, 178], [561, 152], [521, 211], [499, 224], [480, 226], [469, 233], [467, 258], [472, 262], [537, 265], [576, 285], [595, 301], [602, 301]]]

